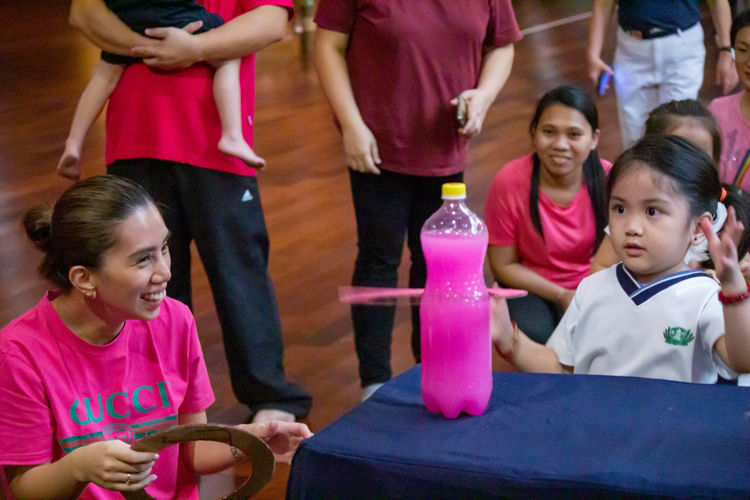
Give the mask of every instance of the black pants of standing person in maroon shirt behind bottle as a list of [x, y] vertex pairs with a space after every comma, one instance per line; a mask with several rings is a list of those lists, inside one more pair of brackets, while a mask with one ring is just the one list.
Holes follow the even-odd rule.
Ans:
[[[461, 182], [463, 173], [422, 177], [381, 170], [380, 175], [350, 170], [359, 253], [352, 285], [393, 288], [404, 236], [411, 252], [409, 287], [423, 288], [427, 266], [419, 239], [422, 225], [442, 205], [446, 182]], [[362, 387], [391, 378], [393, 306], [352, 306], [354, 344], [359, 358]], [[412, 351], [420, 361], [419, 307], [412, 307]]]

